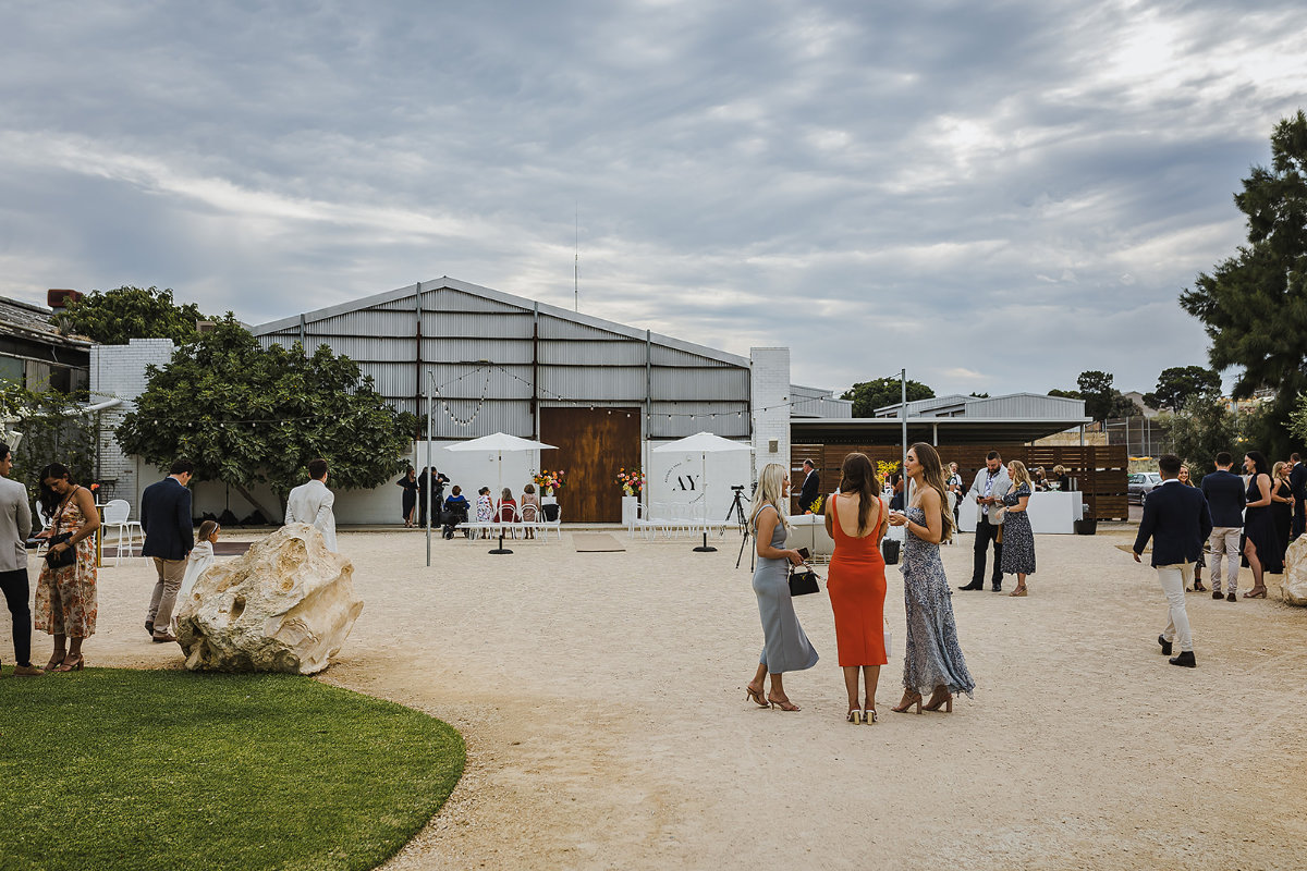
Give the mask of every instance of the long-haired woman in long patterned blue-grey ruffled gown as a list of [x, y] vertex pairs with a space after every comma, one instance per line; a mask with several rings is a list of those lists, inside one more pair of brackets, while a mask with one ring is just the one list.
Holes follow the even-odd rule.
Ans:
[[890, 515], [890, 525], [903, 526], [903, 601], [907, 610], [907, 641], [903, 659], [903, 700], [891, 710], [903, 713], [931, 693], [925, 710], [953, 710], [953, 693], [968, 696], [975, 689], [958, 644], [953, 620], [953, 590], [944, 575], [940, 542], [953, 537], [953, 515], [946, 511], [944, 469], [940, 454], [925, 443], [907, 452], [904, 465], [912, 479], [912, 501], [906, 512]]

